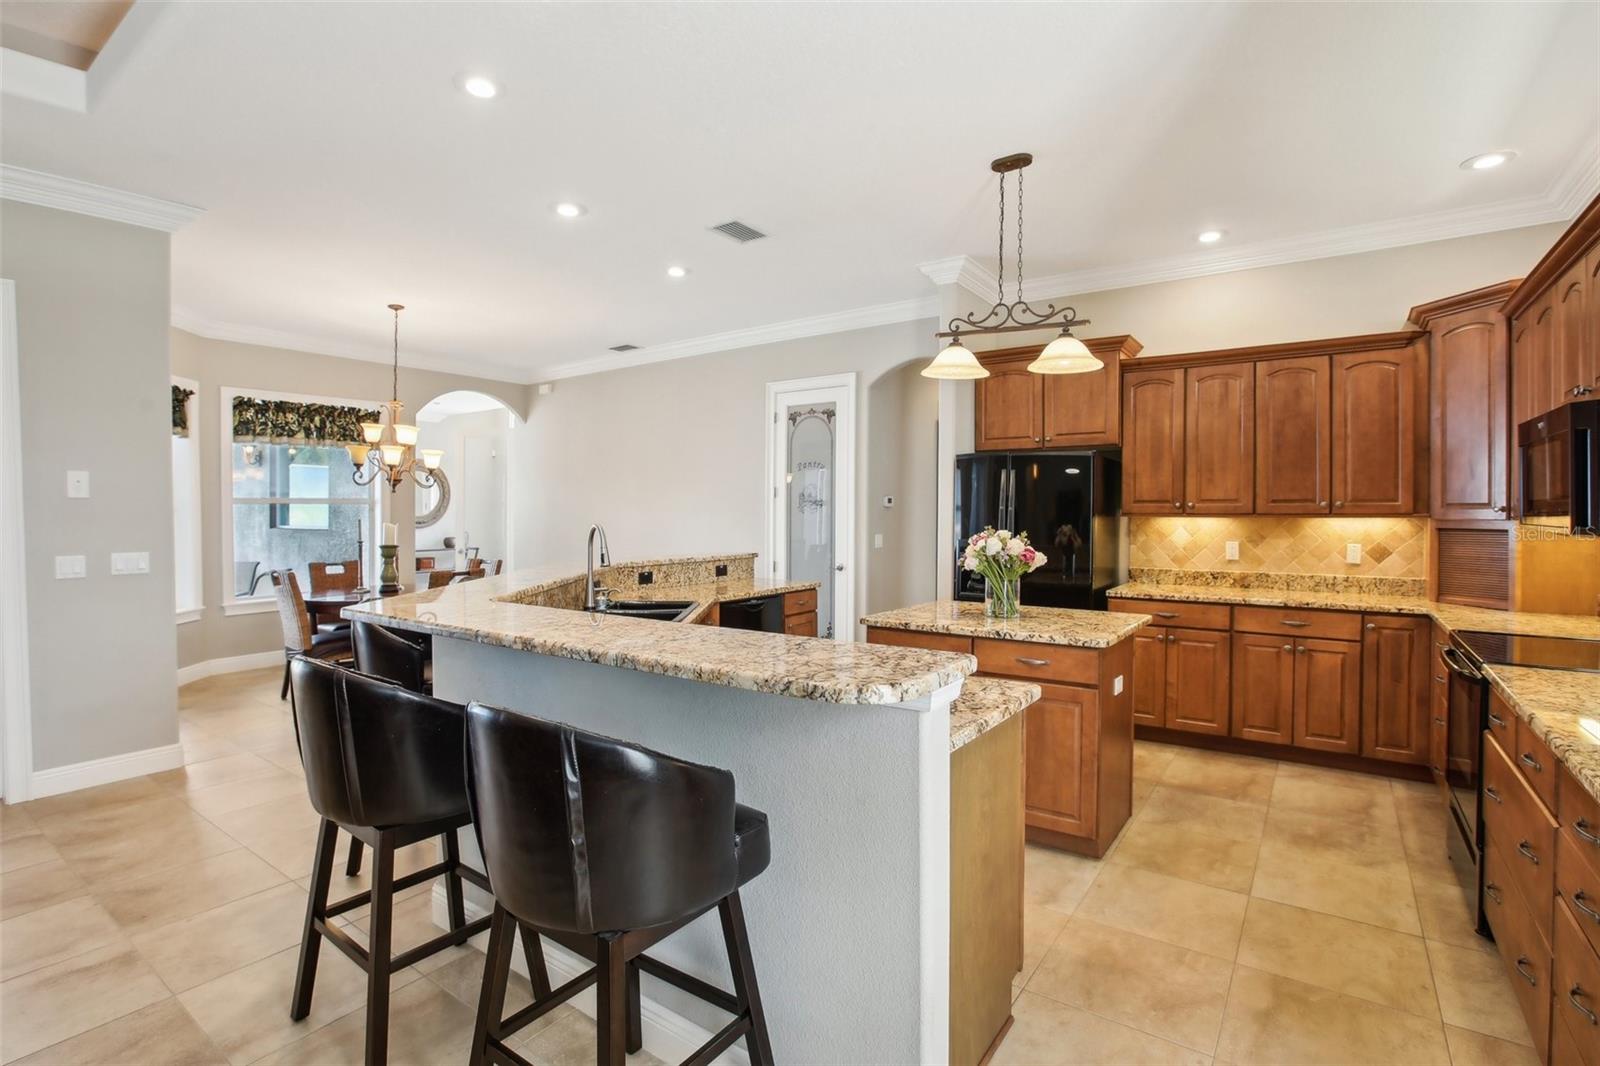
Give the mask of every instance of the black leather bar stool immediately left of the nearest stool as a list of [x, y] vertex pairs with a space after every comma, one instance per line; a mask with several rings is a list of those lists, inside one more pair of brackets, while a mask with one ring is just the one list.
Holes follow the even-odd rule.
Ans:
[[[464, 719], [459, 704], [406, 691], [376, 677], [298, 656], [290, 664], [294, 736], [310, 805], [322, 815], [317, 860], [306, 901], [299, 972], [290, 1018], [310, 1013], [317, 956], [326, 938], [366, 970], [366, 1063], [387, 1058], [389, 975], [490, 927], [466, 919], [462, 879], [488, 890], [488, 880], [461, 863], [456, 829], [467, 813]], [[344, 829], [373, 848], [373, 887], [328, 903], [334, 845]], [[395, 850], [442, 837], [445, 860], [395, 877]], [[445, 877], [450, 932], [390, 956], [394, 893]], [[333, 917], [371, 903], [366, 948], [333, 925]]]

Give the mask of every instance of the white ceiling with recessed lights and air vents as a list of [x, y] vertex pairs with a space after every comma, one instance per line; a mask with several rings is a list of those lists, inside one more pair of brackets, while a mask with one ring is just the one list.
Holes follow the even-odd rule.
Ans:
[[1013, 150], [1029, 275], [1090, 279], [1526, 224], [1600, 150], [1594, 3], [245, 2], [141, 34], [90, 114], [5, 96], [0, 158], [205, 208], [179, 322], [387, 359], [398, 301], [403, 360], [523, 381], [915, 307], [918, 264], [994, 267]]

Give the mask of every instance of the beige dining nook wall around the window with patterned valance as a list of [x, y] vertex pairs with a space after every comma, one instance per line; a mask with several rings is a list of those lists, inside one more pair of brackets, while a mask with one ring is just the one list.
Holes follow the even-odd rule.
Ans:
[[[222, 611], [222, 600], [230, 592], [230, 581], [224, 579], [222, 575], [221, 509], [224, 490], [219, 437], [222, 432], [222, 389], [245, 387], [350, 400], [387, 400], [389, 368], [355, 359], [213, 341], [184, 330], [171, 330], [171, 373], [200, 383], [195, 395], [198, 429], [192, 432], [197, 432], [200, 440], [200, 543], [203, 549], [200, 579], [205, 611], [198, 621], [178, 626], [178, 666], [282, 650], [283, 634], [277, 615], [227, 616]], [[434, 397], [461, 389], [498, 397], [518, 415], [525, 415], [528, 410], [528, 386], [432, 370], [408, 370], [402, 355], [400, 399], [408, 413], [414, 415]], [[410, 581], [416, 530], [411, 522], [403, 519], [414, 514], [411, 485], [402, 487], [390, 496], [390, 503], [394, 514], [400, 515], [395, 522], [400, 525], [402, 579]], [[171, 535], [168, 535], [166, 544], [171, 544]], [[168, 599], [171, 599], [171, 579], [166, 584]], [[171, 605], [168, 605], [168, 611], [171, 611]]]

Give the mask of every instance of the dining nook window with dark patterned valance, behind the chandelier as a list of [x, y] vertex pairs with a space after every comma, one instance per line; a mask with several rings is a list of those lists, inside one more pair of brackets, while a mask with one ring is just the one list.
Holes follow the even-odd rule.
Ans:
[[350, 477], [349, 451], [338, 445], [235, 442], [235, 395], [376, 407], [360, 400], [222, 389], [224, 493], [229, 499], [222, 538], [227, 549], [224, 575], [232, 575], [229, 603], [270, 603], [274, 570], [294, 570], [301, 591], [310, 592], [312, 562], [360, 560], [365, 584], [373, 584], [378, 493]]

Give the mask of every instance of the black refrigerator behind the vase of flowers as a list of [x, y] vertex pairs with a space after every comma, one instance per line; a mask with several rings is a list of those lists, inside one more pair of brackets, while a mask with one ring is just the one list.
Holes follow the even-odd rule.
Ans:
[[1122, 456], [1117, 451], [979, 451], [955, 458], [955, 599], [982, 600], [962, 570], [987, 525], [1027, 533], [1050, 559], [1022, 578], [1022, 605], [1106, 610], [1122, 579]]

